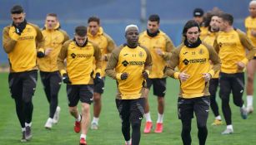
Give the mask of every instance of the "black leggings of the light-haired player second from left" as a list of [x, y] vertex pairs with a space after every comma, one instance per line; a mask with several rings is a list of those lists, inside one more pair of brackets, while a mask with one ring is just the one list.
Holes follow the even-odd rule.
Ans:
[[61, 87], [61, 76], [58, 71], [43, 72], [40, 71], [41, 80], [43, 83], [43, 89], [48, 99], [49, 106], [49, 118], [53, 118], [56, 108], [58, 106], [58, 91]]

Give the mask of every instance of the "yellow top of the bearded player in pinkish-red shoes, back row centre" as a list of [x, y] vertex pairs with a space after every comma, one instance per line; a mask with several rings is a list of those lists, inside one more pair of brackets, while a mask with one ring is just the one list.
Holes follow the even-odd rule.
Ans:
[[[152, 71], [149, 78], [163, 78], [163, 70], [167, 65], [167, 60], [171, 56], [171, 51], [175, 48], [170, 38], [163, 32], [159, 31], [158, 36], [148, 36], [147, 31], [143, 31], [138, 40], [140, 46], [145, 46], [150, 51], [152, 56]], [[163, 56], [156, 53], [156, 49], [163, 51]]]

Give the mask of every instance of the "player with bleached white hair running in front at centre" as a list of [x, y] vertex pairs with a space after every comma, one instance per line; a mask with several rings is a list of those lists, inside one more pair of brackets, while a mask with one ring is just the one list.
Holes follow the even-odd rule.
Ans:
[[[108, 76], [117, 80], [116, 104], [122, 119], [122, 133], [126, 145], [138, 145], [140, 141], [145, 104], [143, 84], [148, 79], [152, 65], [150, 52], [138, 46], [138, 34], [136, 25], [125, 28], [127, 42], [113, 50], [105, 70]], [[132, 139], [130, 125], [133, 129]]]

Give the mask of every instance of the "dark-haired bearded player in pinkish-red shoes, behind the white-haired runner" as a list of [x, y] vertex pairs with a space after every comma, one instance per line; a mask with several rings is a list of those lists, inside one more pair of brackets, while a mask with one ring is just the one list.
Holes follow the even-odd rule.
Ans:
[[166, 76], [163, 75], [163, 70], [174, 46], [170, 38], [163, 31], [159, 30], [159, 25], [160, 17], [158, 15], [149, 16], [148, 29], [143, 31], [139, 36], [140, 45], [148, 48], [153, 61], [152, 70], [147, 80], [147, 89], [145, 89], [146, 104], [144, 116], [146, 118], [146, 124], [144, 133], [150, 133], [153, 128], [148, 104], [148, 94], [152, 85], [153, 94], [158, 96], [158, 121], [154, 132], [163, 132], [164, 95], [166, 93]]

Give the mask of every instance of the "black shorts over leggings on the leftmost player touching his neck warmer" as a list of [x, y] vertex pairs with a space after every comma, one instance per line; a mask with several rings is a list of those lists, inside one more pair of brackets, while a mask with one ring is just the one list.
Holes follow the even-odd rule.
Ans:
[[25, 103], [31, 102], [37, 86], [38, 70], [10, 73], [8, 81], [13, 99], [23, 99]]

